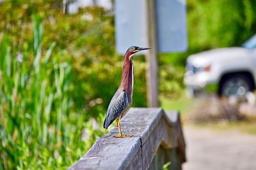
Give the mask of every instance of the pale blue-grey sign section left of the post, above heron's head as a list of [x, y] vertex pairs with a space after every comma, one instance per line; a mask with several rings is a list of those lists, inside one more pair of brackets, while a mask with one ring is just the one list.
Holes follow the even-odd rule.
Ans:
[[147, 1], [116, 0], [116, 50], [124, 54], [129, 46], [147, 46]]

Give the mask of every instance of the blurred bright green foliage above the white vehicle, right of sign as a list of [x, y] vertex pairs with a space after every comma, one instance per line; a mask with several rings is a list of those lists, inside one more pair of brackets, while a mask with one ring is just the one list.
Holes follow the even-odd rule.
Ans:
[[189, 1], [189, 47], [198, 50], [239, 46], [255, 34], [256, 2]]

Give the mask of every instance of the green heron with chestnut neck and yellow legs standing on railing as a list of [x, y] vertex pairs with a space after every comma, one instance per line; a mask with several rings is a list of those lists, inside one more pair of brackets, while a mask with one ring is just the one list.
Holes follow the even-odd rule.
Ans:
[[106, 118], [104, 120], [103, 127], [108, 129], [115, 120], [116, 126], [118, 127], [119, 136], [115, 138], [129, 138], [132, 136], [123, 136], [121, 132], [121, 118], [124, 117], [125, 113], [132, 104], [132, 92], [133, 92], [133, 64], [132, 59], [133, 55], [136, 52], [141, 50], [148, 50], [150, 48], [140, 48], [138, 46], [131, 46], [128, 48], [124, 56], [122, 80], [120, 87], [116, 91], [115, 95], [112, 97], [109, 106]]

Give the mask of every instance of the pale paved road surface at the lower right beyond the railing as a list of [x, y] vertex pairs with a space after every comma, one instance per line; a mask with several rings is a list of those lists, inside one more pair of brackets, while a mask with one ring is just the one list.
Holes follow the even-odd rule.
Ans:
[[184, 170], [255, 170], [256, 136], [185, 126]]

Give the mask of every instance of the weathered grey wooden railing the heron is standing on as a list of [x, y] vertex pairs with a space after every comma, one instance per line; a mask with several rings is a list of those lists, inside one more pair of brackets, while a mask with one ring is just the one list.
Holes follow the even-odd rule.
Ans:
[[[133, 138], [113, 138], [115, 126], [98, 139], [74, 169], [181, 169], [186, 161], [185, 142], [177, 111], [131, 108], [122, 118], [122, 132]], [[75, 144], [74, 144], [75, 145]]]

